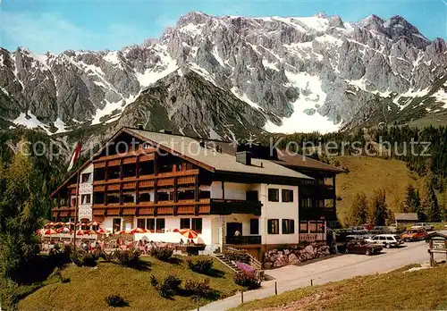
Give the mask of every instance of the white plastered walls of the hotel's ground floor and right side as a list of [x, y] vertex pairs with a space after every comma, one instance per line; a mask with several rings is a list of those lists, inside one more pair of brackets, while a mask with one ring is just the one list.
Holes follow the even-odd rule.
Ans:
[[[124, 222], [124, 217], [121, 221], [122, 230], [130, 230], [136, 228], [138, 225], [138, 219], [164, 219], [164, 233], [144, 233], [137, 234], [136, 239], [142, 239], [146, 237], [148, 240], [164, 241], [164, 242], [179, 242], [182, 238], [177, 232], [173, 232], [174, 229], [181, 229], [181, 218], [201, 218], [202, 219], [202, 231], [198, 234], [198, 243], [204, 243], [209, 248], [214, 249], [222, 246], [222, 232], [224, 235], [232, 232], [227, 232], [226, 223], [241, 223], [242, 235], [249, 236], [250, 234], [250, 219], [259, 220], [259, 230], [257, 236], [261, 236], [261, 244], [298, 244], [299, 243], [299, 198], [298, 198], [298, 186], [286, 186], [286, 185], [274, 185], [274, 184], [243, 184], [234, 182], [224, 182], [224, 191], [222, 189], [221, 181], [213, 181], [209, 187], [201, 187], [201, 189], [209, 189], [211, 191], [211, 198], [223, 198], [234, 200], [246, 200], [247, 191], [257, 191], [258, 200], [262, 203], [261, 215], [256, 216], [253, 214], [230, 214], [223, 216], [222, 228], [219, 215], [203, 215], [203, 216], [190, 216], [190, 215], [178, 215], [178, 216], [158, 216], [158, 217], [126, 217], [131, 218], [128, 222]], [[268, 189], [278, 189], [279, 200], [278, 202], [271, 202], [268, 200]], [[293, 191], [292, 202], [283, 202], [283, 189]], [[152, 196], [151, 196], [152, 197]], [[231, 204], [231, 203], [229, 203]], [[103, 227], [109, 231], [113, 230], [113, 219], [120, 218], [117, 216], [105, 217]], [[277, 220], [278, 231], [276, 234], [268, 233], [267, 224], [269, 220]], [[293, 233], [283, 234], [283, 220], [293, 220], [294, 230]], [[185, 240], [183, 238], [183, 240]]]

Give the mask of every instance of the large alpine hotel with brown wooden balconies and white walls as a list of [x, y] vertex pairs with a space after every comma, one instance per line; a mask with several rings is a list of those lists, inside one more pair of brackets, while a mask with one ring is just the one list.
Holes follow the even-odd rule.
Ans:
[[208, 250], [227, 244], [258, 256], [325, 239], [339, 172], [268, 147], [122, 128], [52, 193], [53, 215], [73, 219], [78, 194], [79, 219], [107, 230], [140, 227], [149, 240], [178, 242], [173, 230], [190, 228]]

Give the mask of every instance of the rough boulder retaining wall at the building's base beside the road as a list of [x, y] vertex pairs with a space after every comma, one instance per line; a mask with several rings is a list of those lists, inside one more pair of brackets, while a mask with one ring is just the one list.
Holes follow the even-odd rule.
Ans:
[[314, 242], [308, 246], [273, 249], [264, 253], [264, 267], [278, 268], [284, 265], [296, 265], [303, 261], [330, 255], [329, 246]]

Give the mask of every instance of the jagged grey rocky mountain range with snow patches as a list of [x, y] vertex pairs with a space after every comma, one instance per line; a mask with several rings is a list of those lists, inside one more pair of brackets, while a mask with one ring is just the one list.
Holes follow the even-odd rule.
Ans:
[[0, 49], [0, 127], [144, 124], [207, 137], [447, 118], [447, 44], [401, 16], [188, 13], [121, 51]]

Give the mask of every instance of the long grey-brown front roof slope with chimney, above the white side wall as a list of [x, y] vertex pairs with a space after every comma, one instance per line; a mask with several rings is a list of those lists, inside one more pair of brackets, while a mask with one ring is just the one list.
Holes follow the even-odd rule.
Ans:
[[[148, 142], [155, 143], [155, 145], [170, 149], [176, 154], [184, 155], [186, 158], [192, 159], [195, 162], [205, 164], [213, 171], [242, 172], [312, 180], [311, 177], [308, 177], [303, 173], [295, 172], [270, 160], [252, 159], [251, 165], [241, 164], [236, 162], [234, 155], [225, 152], [217, 152], [215, 151], [215, 148], [200, 147], [198, 139], [130, 128], [126, 128], [125, 131], [140, 139], [145, 139], [148, 140]], [[212, 140], [207, 141], [212, 142]]]

